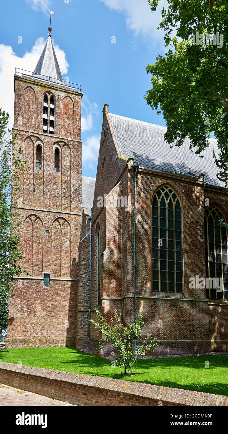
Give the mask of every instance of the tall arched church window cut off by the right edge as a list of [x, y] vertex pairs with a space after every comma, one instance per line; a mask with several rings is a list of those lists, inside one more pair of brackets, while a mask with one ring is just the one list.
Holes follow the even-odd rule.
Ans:
[[204, 216], [207, 298], [228, 300], [228, 235], [218, 221], [225, 218], [215, 205]]

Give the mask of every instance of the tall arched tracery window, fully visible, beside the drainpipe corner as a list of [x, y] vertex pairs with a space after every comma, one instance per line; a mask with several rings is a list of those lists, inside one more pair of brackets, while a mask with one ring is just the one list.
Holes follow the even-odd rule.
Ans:
[[152, 290], [183, 292], [182, 212], [172, 188], [160, 187], [151, 203]]

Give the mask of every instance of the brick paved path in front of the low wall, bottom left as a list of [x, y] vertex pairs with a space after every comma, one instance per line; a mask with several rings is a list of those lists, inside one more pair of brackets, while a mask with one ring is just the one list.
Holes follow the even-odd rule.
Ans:
[[57, 401], [36, 393], [15, 389], [14, 387], [0, 384], [0, 406], [1, 405], [72, 405], [67, 402]]

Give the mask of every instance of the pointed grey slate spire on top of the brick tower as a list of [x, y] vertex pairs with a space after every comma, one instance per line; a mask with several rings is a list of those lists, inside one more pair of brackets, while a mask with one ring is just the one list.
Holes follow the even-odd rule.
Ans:
[[42, 54], [37, 62], [33, 77], [43, 80], [49, 80], [54, 83], [64, 84], [62, 74], [59, 69], [59, 63], [55, 55], [55, 50], [52, 44], [51, 31], [49, 27], [49, 35]]

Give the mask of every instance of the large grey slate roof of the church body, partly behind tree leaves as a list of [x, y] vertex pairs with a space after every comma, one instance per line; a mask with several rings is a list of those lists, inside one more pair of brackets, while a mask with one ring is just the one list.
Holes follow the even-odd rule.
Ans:
[[140, 165], [158, 170], [187, 175], [205, 174], [205, 184], [223, 187], [216, 178], [218, 168], [213, 158], [213, 150], [218, 153], [217, 141], [210, 139], [209, 147], [202, 152], [204, 158], [189, 151], [189, 140], [185, 140], [181, 148], [164, 141], [165, 127], [108, 114], [117, 145], [123, 158], [134, 158]]

